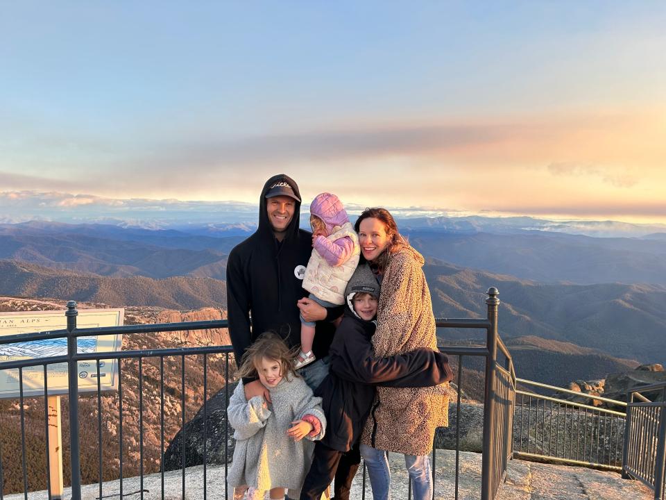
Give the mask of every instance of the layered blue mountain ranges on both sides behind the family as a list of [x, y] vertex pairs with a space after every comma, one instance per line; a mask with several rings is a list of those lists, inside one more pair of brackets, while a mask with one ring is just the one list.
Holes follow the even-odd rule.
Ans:
[[[436, 316], [484, 315], [485, 292], [497, 286], [505, 340], [538, 337], [643, 363], [663, 362], [665, 233], [592, 238], [525, 229], [535, 221], [507, 218], [500, 221], [503, 228], [483, 217], [461, 217], [454, 226], [446, 217], [401, 221], [411, 244], [427, 257], [424, 270]], [[253, 225], [246, 223], [160, 230], [0, 224], [0, 293], [110, 306], [223, 307], [228, 252], [249, 231]], [[441, 335], [454, 340], [471, 335], [471, 341], [483, 336]]]

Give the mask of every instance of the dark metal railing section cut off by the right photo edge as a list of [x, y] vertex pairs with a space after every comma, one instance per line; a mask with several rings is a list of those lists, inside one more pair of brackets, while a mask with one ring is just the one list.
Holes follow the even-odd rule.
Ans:
[[[644, 392], [660, 392], [650, 401]], [[622, 474], [638, 479], [664, 500], [666, 462], [666, 382], [645, 385], [626, 394], [626, 431]], [[638, 399], [638, 401], [635, 401]]]

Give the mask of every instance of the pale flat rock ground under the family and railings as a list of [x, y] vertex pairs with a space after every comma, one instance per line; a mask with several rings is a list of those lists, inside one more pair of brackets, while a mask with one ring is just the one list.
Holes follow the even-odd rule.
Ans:
[[[389, 453], [391, 465], [391, 497], [406, 499], [407, 473], [404, 459], [395, 453]], [[477, 500], [481, 498], [481, 454], [461, 451], [459, 454], [459, 487], [460, 500]], [[438, 451], [434, 462], [436, 500], [455, 498], [456, 488], [456, 453], [454, 451]], [[225, 498], [225, 468], [221, 465], [209, 466], [206, 471], [206, 496], [210, 500]], [[119, 481], [103, 483], [102, 494], [105, 499], [119, 497]], [[123, 480], [123, 499], [139, 500], [141, 483], [138, 477]], [[146, 500], [162, 498], [162, 476], [151, 474], [144, 476], [143, 482]], [[363, 474], [359, 474], [352, 484], [350, 497], [361, 498], [363, 490]], [[65, 489], [65, 498], [69, 498], [69, 488]], [[99, 485], [83, 487], [83, 500], [95, 500], [99, 497]], [[6, 500], [22, 500], [22, 494], [5, 495]], [[29, 500], [46, 500], [46, 491], [31, 492]], [[182, 472], [172, 471], [164, 474], [164, 498], [203, 499], [203, 466], [185, 470], [185, 496], [182, 495]], [[228, 497], [230, 498], [230, 496]], [[370, 481], [366, 476], [366, 499], [373, 498]], [[600, 472], [583, 467], [567, 467], [564, 465], [545, 465], [523, 460], [510, 460], [507, 467], [506, 482], [502, 485], [498, 500], [650, 500], [651, 491], [638, 481], [622, 479], [615, 472]]]

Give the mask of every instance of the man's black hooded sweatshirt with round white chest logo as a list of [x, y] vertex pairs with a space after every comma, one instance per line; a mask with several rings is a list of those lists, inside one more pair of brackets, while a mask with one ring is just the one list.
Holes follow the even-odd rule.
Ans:
[[[298, 228], [300, 201], [296, 200], [284, 238], [281, 242], [275, 238], [266, 212], [266, 192], [280, 182], [289, 183], [300, 198], [298, 185], [289, 176], [279, 174], [269, 178], [259, 195], [257, 231], [234, 247], [227, 262], [229, 334], [237, 363], [247, 347], [265, 331], [278, 332], [289, 347], [300, 342], [296, 302], [307, 296], [302, 278], [312, 252], [312, 239], [309, 231]], [[341, 312], [342, 308], [337, 308], [330, 316], [334, 318]], [[313, 346], [317, 358], [327, 355], [333, 333], [332, 324], [318, 322]]]

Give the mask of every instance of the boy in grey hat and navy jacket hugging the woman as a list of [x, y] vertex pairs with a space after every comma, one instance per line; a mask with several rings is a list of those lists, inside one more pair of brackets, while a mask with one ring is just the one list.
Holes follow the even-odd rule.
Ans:
[[352, 478], [361, 460], [359, 438], [375, 400], [375, 385], [432, 387], [453, 378], [447, 357], [428, 348], [375, 358], [379, 283], [368, 264], [357, 267], [345, 290], [347, 308], [330, 348], [330, 373], [317, 388], [323, 398], [328, 431], [316, 442], [300, 500], [317, 500], [341, 460], [352, 474], [336, 477], [335, 499], [349, 500]]

